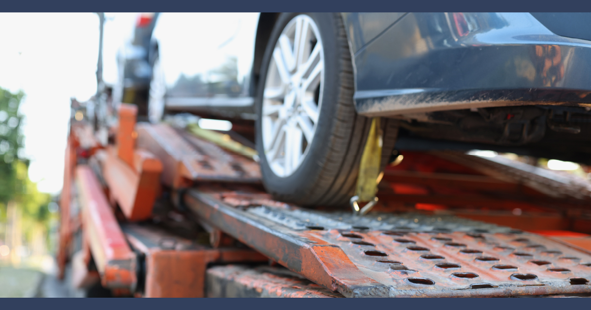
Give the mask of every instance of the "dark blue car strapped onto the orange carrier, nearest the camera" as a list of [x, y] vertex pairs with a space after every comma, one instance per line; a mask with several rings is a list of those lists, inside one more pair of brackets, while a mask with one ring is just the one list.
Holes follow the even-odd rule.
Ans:
[[372, 119], [397, 149], [591, 163], [589, 15], [161, 14], [148, 115], [255, 120], [265, 188], [300, 205], [355, 193]]

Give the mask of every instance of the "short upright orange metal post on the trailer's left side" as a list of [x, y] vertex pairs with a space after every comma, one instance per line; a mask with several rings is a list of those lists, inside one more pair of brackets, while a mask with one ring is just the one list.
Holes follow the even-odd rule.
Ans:
[[117, 129], [117, 155], [129, 166], [134, 165], [134, 148], [137, 133], [135, 130], [135, 119], [138, 114], [138, 107], [128, 103], [121, 103], [119, 106], [119, 128]]

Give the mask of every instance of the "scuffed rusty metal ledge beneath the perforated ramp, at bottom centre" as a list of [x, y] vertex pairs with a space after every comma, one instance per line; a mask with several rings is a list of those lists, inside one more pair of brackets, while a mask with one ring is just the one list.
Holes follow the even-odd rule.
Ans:
[[206, 277], [206, 296], [213, 298], [344, 297], [282, 267], [215, 266]]

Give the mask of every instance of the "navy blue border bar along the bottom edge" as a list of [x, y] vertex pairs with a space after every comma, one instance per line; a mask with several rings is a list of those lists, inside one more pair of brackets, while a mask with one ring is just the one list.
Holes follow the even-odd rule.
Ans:
[[589, 309], [589, 298], [408, 298], [408, 299], [1, 299], [3, 309], [280, 309], [280, 310], [446, 310]]

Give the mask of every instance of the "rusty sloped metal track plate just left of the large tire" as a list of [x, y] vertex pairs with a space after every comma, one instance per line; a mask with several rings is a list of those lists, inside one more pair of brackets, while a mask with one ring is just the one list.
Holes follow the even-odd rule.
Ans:
[[224, 151], [166, 124], [139, 123], [138, 147], [147, 149], [163, 162], [161, 181], [168, 187], [186, 187], [193, 181], [261, 181], [256, 162]]

